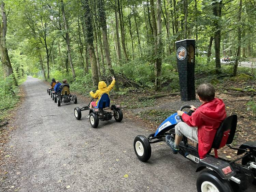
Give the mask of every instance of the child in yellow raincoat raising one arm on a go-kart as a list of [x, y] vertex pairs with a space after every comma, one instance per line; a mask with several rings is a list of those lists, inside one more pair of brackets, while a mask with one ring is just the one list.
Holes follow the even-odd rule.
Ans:
[[101, 98], [101, 95], [103, 93], [107, 93], [109, 95], [109, 92], [111, 91], [111, 89], [113, 89], [113, 87], [115, 85], [115, 82], [116, 81], [115, 81], [115, 77], [114, 76], [112, 77], [112, 82], [111, 82], [111, 84], [108, 87], [106, 86], [106, 83], [104, 81], [100, 81], [99, 82], [98, 90], [95, 93], [93, 93], [93, 91], [90, 92], [91, 97], [98, 98], [98, 100], [96, 102], [93, 101], [93, 102], [90, 103], [90, 108], [93, 108], [93, 107], [97, 106], [97, 104], [98, 104], [98, 102], [99, 102], [99, 100]]

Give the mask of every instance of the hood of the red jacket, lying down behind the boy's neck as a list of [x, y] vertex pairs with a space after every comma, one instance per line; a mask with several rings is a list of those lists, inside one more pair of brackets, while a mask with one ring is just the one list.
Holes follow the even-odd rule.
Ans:
[[211, 119], [222, 119], [226, 114], [225, 104], [221, 99], [214, 98], [214, 100], [204, 103], [202, 114]]

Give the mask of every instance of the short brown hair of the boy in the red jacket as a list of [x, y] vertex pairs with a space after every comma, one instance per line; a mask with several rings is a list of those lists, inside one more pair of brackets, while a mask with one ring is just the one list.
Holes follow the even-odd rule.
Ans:
[[215, 89], [213, 85], [204, 83], [198, 86], [197, 94], [203, 101], [212, 101], [215, 97]]

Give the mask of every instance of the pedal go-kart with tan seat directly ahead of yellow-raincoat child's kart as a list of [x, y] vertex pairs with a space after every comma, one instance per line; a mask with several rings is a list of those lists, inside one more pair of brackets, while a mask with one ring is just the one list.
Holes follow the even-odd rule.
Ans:
[[60, 93], [55, 93], [53, 95], [54, 101], [57, 103], [58, 107], [60, 106], [60, 103], [69, 103], [70, 101], [73, 101], [74, 104], [77, 103], [76, 95], [70, 94], [70, 90], [68, 86], [64, 86]]

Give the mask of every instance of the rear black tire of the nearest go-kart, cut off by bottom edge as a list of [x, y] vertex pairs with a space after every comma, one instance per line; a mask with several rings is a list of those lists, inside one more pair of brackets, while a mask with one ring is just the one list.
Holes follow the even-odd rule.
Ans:
[[204, 171], [197, 178], [197, 191], [206, 192], [215, 188], [219, 192], [233, 192], [228, 180], [222, 179], [213, 171]]

